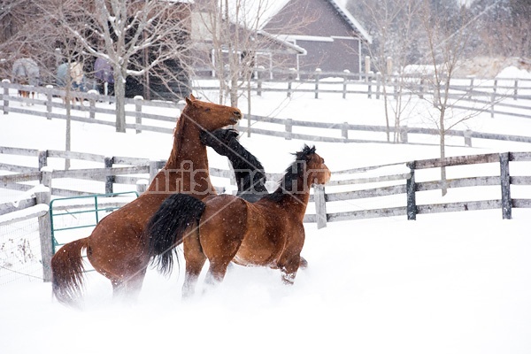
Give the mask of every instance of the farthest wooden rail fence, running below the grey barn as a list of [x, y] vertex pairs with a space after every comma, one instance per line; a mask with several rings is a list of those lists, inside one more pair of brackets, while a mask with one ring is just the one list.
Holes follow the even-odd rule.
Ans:
[[[240, 83], [242, 90], [262, 96], [263, 93], [285, 93], [287, 97], [295, 93], [309, 93], [314, 98], [323, 96], [363, 95], [368, 98], [381, 99], [389, 96], [419, 96], [434, 103], [434, 98], [447, 88], [442, 83], [435, 89], [433, 76], [427, 74], [389, 75], [380, 73], [323, 72], [319, 68], [314, 72], [295, 70], [257, 71], [250, 81]], [[384, 89], [385, 88], [385, 89]], [[196, 80], [193, 89], [197, 91], [219, 90], [219, 81], [215, 78]], [[529, 118], [530, 104], [507, 101], [531, 100], [531, 79], [496, 78], [479, 79], [474, 77], [451, 79], [448, 88], [453, 108], [471, 111], [489, 111], [495, 114]], [[512, 110], [525, 112], [511, 112]]]

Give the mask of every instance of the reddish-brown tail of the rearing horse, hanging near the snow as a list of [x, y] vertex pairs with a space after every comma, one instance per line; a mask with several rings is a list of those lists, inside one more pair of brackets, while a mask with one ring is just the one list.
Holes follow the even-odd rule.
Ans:
[[66, 243], [51, 258], [51, 289], [59, 303], [79, 305], [84, 276], [81, 250], [89, 247], [89, 237]]

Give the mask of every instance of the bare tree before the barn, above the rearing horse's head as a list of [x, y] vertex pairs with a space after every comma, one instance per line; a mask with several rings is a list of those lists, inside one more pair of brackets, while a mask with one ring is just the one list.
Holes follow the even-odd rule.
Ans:
[[259, 72], [263, 58], [274, 60], [276, 65], [289, 55], [295, 58], [295, 46], [276, 34], [296, 33], [315, 18], [304, 13], [303, 20], [274, 27], [273, 34], [262, 28], [280, 10], [278, 2], [202, 0], [197, 4], [192, 31], [197, 57], [219, 80], [219, 103], [227, 97], [231, 105], [237, 103], [244, 89], [249, 95], [250, 81]]

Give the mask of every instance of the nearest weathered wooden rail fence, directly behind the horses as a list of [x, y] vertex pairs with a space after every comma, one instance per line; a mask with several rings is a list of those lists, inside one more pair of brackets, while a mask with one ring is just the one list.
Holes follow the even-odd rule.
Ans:
[[[27, 167], [14, 165], [0, 165], [0, 170], [12, 169], [20, 171], [19, 173], [2, 176], [2, 187], [4, 189], [28, 190], [32, 186], [27, 185], [27, 182], [34, 182], [33, 184], [40, 184], [48, 187], [48, 189], [36, 189], [35, 196], [19, 200], [17, 203], [0, 204], [0, 216], [5, 214], [13, 215], [12, 217], [1, 220], [0, 226], [4, 227], [15, 223], [22, 219], [35, 218], [39, 220], [39, 228], [41, 234], [41, 250], [42, 250], [42, 264], [49, 265], [51, 254], [51, 226], [48, 206], [52, 196], [81, 196], [90, 195], [94, 193], [110, 193], [115, 184], [135, 185], [135, 189], [142, 193], [145, 191], [148, 184], [148, 179], [152, 179], [158, 172], [158, 169], [164, 164], [163, 161], [148, 161], [139, 158], [105, 158], [93, 154], [73, 153], [65, 151], [35, 151], [23, 150], [14, 148], [1, 148], [3, 154], [33, 154], [38, 165], [35, 168], [29, 168], [27, 172], [21, 172]], [[54, 158], [80, 158], [88, 159], [89, 161], [99, 160], [104, 167], [93, 169], [79, 169], [71, 171], [54, 171], [47, 167], [47, 160], [50, 157]], [[127, 167], [112, 167], [112, 163], [121, 164], [139, 164]], [[366, 219], [377, 217], [399, 217], [405, 216], [407, 219], [416, 219], [419, 214], [434, 213], [434, 212], [459, 212], [459, 211], [477, 211], [488, 209], [500, 209], [503, 219], [512, 218], [512, 208], [531, 208], [531, 198], [527, 197], [512, 197], [512, 186], [531, 186], [531, 168], [527, 166], [523, 170], [527, 175], [511, 176], [509, 173], [510, 163], [531, 163], [531, 152], [507, 152], [502, 154], [487, 154], [476, 156], [463, 156], [455, 158], [444, 159], [429, 159], [411, 161], [404, 164], [408, 172], [382, 174], [376, 177], [356, 178], [356, 179], [342, 179], [344, 176], [350, 174], [363, 173], [368, 170], [378, 170], [386, 166], [372, 166], [363, 169], [354, 169], [347, 171], [340, 171], [333, 173], [334, 180], [327, 184], [326, 189], [347, 189], [341, 192], [326, 192], [324, 187], [317, 186], [314, 188], [314, 193], [310, 197], [314, 212], [308, 212], [304, 217], [304, 222], [317, 223], [317, 227], [326, 227], [327, 222], [334, 222], [340, 220], [352, 219]], [[439, 180], [434, 181], [416, 181], [416, 176], [419, 172], [427, 169], [438, 169], [441, 167], [452, 167], [462, 165], [499, 165], [499, 173], [495, 175], [466, 175], [463, 178], [454, 178], [443, 182]], [[14, 168], [16, 167], [16, 168]], [[128, 174], [135, 174], [135, 177], [128, 176]], [[139, 175], [141, 174], [141, 175]], [[143, 174], [143, 175], [142, 175]], [[212, 169], [211, 174], [228, 178], [228, 184], [234, 184], [231, 179], [232, 173], [228, 170]], [[268, 179], [277, 180], [280, 175], [269, 174]], [[104, 189], [100, 191], [73, 191], [70, 189], [52, 188], [58, 180], [61, 179], [81, 179], [100, 181], [104, 184]], [[383, 183], [384, 186], [374, 187], [375, 185]], [[363, 187], [364, 185], [369, 187]], [[443, 204], [418, 204], [417, 196], [427, 191], [434, 191], [436, 189], [458, 189], [458, 188], [473, 188], [479, 189], [483, 187], [494, 187], [498, 190], [499, 197], [489, 198], [484, 200], [460, 200], [452, 203]], [[233, 187], [234, 189], [234, 187]], [[129, 189], [130, 190], [130, 189]], [[393, 198], [398, 197], [401, 202], [399, 206], [395, 207], [381, 207], [374, 209], [360, 209], [343, 212], [327, 212], [335, 203], [342, 203], [355, 206], [353, 209], [359, 209], [357, 201], [364, 199], [379, 199], [379, 198]], [[111, 206], [119, 207], [124, 203], [117, 201], [107, 202]], [[380, 205], [385, 203], [379, 203]], [[99, 207], [106, 205], [100, 204]], [[81, 207], [81, 205], [69, 205], [69, 209]], [[312, 209], [312, 208], [310, 208]], [[23, 216], [17, 217], [15, 212], [29, 211]], [[13, 214], [12, 214], [13, 213]], [[44, 281], [50, 281], [50, 268], [44, 266], [43, 268]]]

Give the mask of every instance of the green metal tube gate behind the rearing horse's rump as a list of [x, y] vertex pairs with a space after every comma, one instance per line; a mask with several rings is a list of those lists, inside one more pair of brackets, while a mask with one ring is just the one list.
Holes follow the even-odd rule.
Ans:
[[[127, 204], [127, 197], [134, 199], [137, 196], [137, 192], [121, 192], [71, 196], [51, 200], [50, 224], [53, 253], [55, 254], [58, 248], [67, 242], [90, 235], [92, 228], [96, 227], [100, 219], [103, 219], [106, 214]], [[88, 199], [92, 199], [92, 201], [88, 201]], [[118, 199], [124, 201], [117, 202]], [[88, 228], [91, 229], [87, 230]], [[58, 241], [58, 234], [66, 231], [68, 231], [70, 239], [65, 237], [65, 241]]]

